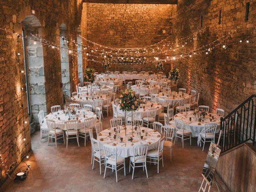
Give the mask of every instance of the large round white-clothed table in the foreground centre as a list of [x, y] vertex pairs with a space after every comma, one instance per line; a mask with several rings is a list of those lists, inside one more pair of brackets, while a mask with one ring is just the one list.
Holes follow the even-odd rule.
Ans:
[[[133, 137], [134, 140], [130, 142], [128, 141], [128, 138], [132, 136], [131, 135], [132, 130], [130, 128], [131, 126], [127, 126], [127, 129], [126, 129], [127, 136], [125, 136], [124, 128], [121, 129], [119, 137], [123, 138], [122, 142], [120, 141], [120, 138], [118, 136], [114, 140], [113, 128], [112, 130], [111, 129], [103, 130], [102, 132], [100, 132], [101, 136], [97, 136], [97, 140], [100, 141], [100, 148], [103, 150], [104, 144], [113, 146], [113, 143], [115, 143], [117, 147], [117, 155], [124, 158], [133, 156], [132, 146], [136, 146], [140, 144], [148, 144], [148, 150], [158, 149], [158, 143], [159, 143], [159, 140], [161, 139], [161, 135], [158, 132], [154, 132], [150, 128], [141, 127], [140, 129], [144, 130], [144, 133], [141, 133], [143, 135], [143, 139], [141, 140], [139, 136], [137, 136], [137, 132], [134, 131], [134, 137]], [[110, 137], [109, 137], [109, 132], [112, 132]], [[148, 133], [147, 136], [145, 136], [146, 132]], [[103, 141], [101, 141], [100, 139], [102, 139]], [[150, 144], [148, 142], [150, 142]]]

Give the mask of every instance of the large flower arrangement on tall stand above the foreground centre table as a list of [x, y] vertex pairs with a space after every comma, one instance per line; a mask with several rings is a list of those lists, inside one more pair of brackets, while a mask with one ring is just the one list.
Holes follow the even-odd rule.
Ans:
[[131, 89], [123, 90], [119, 99], [122, 111], [135, 111], [142, 103], [142, 100], [137, 99], [135, 92]]

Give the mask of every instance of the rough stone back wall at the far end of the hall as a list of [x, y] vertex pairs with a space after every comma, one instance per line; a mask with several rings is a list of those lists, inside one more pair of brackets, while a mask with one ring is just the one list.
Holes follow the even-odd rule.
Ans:
[[[171, 34], [175, 7], [160, 4], [87, 4], [87, 38], [114, 48], [140, 48], [154, 44]], [[93, 58], [89, 56], [90, 60]], [[89, 61], [88, 66], [103, 72], [101, 63]], [[167, 68], [169, 66], [166, 64]], [[112, 66], [110, 70], [115, 68]], [[151, 63], [120, 64], [119, 68], [121, 72], [155, 70]]]

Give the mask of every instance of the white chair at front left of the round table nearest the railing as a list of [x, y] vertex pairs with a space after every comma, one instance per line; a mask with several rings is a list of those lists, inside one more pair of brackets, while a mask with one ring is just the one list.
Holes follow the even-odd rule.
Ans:
[[[175, 124], [176, 124], [176, 136], [175, 140], [177, 138], [181, 138], [182, 140], [182, 148], [184, 148], [184, 140], [190, 139], [190, 145], [191, 145], [191, 136], [192, 133], [186, 129], [184, 129], [184, 121], [180, 119], [175, 119]], [[174, 140], [174, 144], [175, 144]]]

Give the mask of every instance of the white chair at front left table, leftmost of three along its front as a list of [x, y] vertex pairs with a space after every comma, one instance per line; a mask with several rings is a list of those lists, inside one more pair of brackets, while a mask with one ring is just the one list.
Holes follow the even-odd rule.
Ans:
[[49, 138], [55, 139], [55, 147], [56, 148], [57, 148], [57, 140], [58, 139], [63, 138], [64, 144], [65, 144], [64, 132], [63, 132], [63, 130], [56, 128], [55, 121], [47, 119], [46, 124], [47, 124], [47, 127], [48, 127], [48, 142], [47, 142], [47, 145], [49, 145]]

